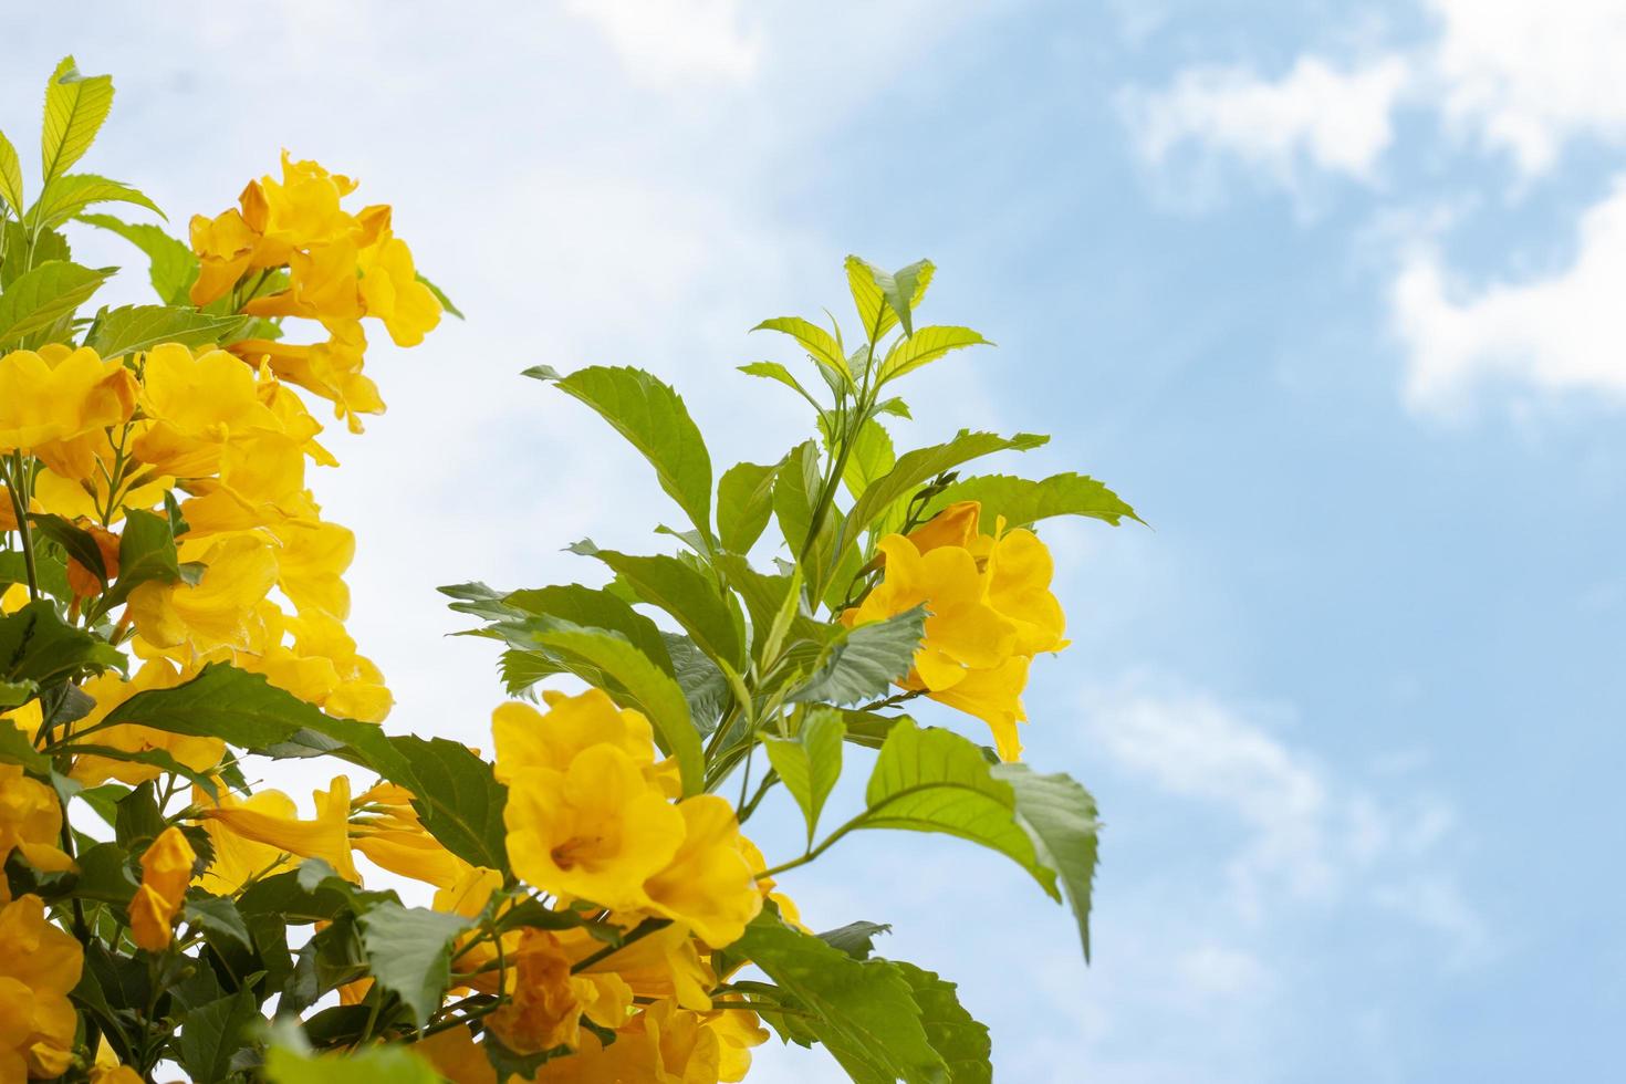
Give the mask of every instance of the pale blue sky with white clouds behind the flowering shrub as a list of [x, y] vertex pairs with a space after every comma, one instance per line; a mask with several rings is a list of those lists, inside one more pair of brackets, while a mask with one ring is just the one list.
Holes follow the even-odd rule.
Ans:
[[[470, 743], [494, 650], [442, 639], [434, 587], [598, 577], [561, 546], [647, 551], [672, 517], [517, 371], [646, 366], [715, 462], [769, 462], [808, 419], [733, 372], [793, 361], [746, 328], [846, 310], [847, 252], [933, 258], [930, 319], [1000, 349], [928, 369], [898, 440], [1050, 432], [1024, 471], [1154, 527], [1047, 531], [1073, 647], [1036, 665], [1028, 748], [1109, 822], [1096, 960], [938, 837], [842, 842], [787, 878], [808, 920], [894, 923], [1000, 1079], [1605, 1079], [1626, 3], [1353, 7], [28, 5], [0, 124], [33, 146], [73, 52], [119, 86], [85, 167], [177, 228], [281, 146], [395, 205], [470, 319], [374, 348], [390, 413], [315, 484], [390, 725]], [[782, 808], [751, 829], [795, 845]], [[766, 1048], [753, 1079], [839, 1077]]]

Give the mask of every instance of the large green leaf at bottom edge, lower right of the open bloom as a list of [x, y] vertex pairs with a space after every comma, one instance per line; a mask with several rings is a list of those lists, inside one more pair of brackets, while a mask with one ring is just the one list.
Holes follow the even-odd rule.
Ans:
[[886, 960], [855, 960], [764, 910], [730, 947], [806, 1008], [811, 1032], [862, 1079], [937, 1082], [948, 1068], [932, 1050], [907, 978]]

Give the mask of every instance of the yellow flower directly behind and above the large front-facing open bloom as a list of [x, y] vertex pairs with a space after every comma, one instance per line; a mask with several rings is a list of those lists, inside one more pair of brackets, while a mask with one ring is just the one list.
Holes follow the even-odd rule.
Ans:
[[654, 765], [655, 733], [641, 712], [618, 709], [600, 689], [580, 696], [548, 689], [541, 699], [548, 705], [546, 713], [519, 700], [491, 712], [496, 777], [501, 782], [532, 767], [564, 772], [579, 752], [598, 744], [621, 749], [641, 769]]

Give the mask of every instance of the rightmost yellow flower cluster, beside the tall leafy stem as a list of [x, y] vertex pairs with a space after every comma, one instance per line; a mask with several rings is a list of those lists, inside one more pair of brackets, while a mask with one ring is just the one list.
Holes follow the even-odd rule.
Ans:
[[1067, 647], [1050, 593], [1050, 551], [1028, 530], [979, 530], [980, 505], [953, 504], [911, 535], [880, 541], [885, 575], [841, 619], [849, 627], [924, 605], [925, 640], [899, 684], [976, 715], [1005, 761], [1021, 757], [1021, 691], [1039, 652]]

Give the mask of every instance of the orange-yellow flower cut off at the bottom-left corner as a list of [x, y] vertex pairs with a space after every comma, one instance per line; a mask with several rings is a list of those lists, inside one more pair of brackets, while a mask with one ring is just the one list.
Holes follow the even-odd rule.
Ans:
[[68, 1071], [80, 1022], [68, 991], [83, 967], [80, 943], [46, 918], [37, 895], [0, 908], [0, 1081]]

